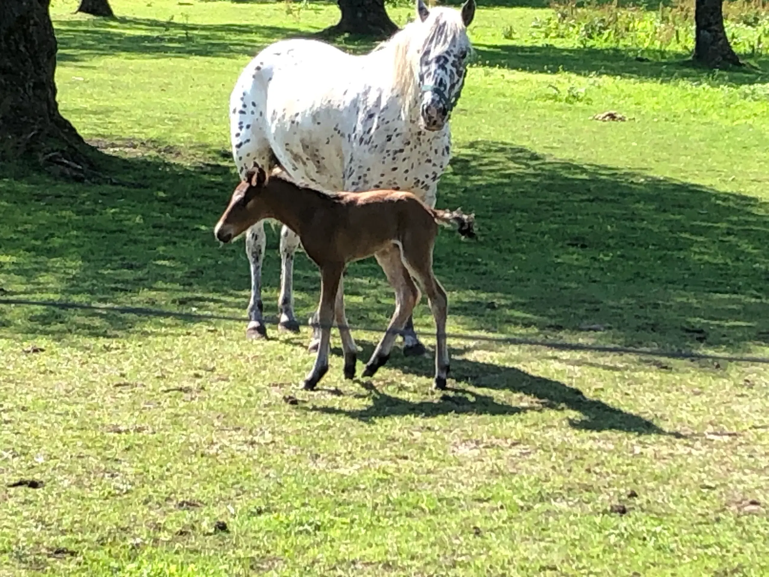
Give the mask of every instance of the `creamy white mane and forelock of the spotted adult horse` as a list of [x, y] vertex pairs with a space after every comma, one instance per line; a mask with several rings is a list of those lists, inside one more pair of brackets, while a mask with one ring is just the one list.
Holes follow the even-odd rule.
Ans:
[[391, 59], [390, 96], [401, 99], [404, 118], [408, 118], [411, 108], [418, 105], [419, 58], [424, 47], [429, 43], [435, 52], [443, 52], [457, 40], [465, 48], [470, 48], [460, 12], [438, 6], [430, 8], [430, 15], [424, 22], [419, 19], [409, 22], [400, 32], [375, 48], [375, 52], [385, 52]]

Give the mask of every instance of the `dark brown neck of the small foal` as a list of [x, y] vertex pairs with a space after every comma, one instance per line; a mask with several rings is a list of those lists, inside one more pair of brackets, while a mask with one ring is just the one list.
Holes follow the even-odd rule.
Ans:
[[268, 216], [276, 218], [300, 237], [318, 211], [335, 202], [330, 195], [282, 178], [271, 178], [262, 195], [268, 207]]

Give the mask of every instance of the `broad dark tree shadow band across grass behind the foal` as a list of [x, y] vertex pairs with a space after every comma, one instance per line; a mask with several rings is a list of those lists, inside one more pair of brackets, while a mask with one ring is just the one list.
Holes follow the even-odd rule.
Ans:
[[[229, 162], [212, 156], [184, 166], [159, 155], [113, 162], [106, 171], [113, 185], [24, 174], [2, 183], [0, 300], [48, 295], [241, 313], [249, 288], [242, 242], [220, 247], [211, 232], [235, 184]], [[435, 248], [436, 274], [461, 329], [533, 328], [552, 337], [598, 326], [603, 343], [672, 351], [736, 353], [769, 342], [767, 202], [475, 142], [454, 157], [438, 205], [462, 206], [477, 219], [478, 241], [443, 232]], [[268, 313], [277, 308], [269, 296], [278, 288], [277, 248], [277, 230], [268, 227]], [[302, 255], [295, 270], [306, 319], [317, 304], [318, 271]], [[393, 297], [373, 259], [351, 266], [345, 292], [351, 325], [384, 328]], [[25, 309], [25, 322], [12, 322], [11, 313], [0, 303], [4, 332], [115, 336], [141, 322], [111, 312], [89, 319], [77, 309]], [[418, 315], [431, 327], [424, 303]]]

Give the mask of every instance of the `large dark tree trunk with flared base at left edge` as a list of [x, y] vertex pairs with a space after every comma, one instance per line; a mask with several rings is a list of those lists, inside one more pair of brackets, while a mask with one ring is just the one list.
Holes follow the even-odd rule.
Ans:
[[49, 3], [0, 2], [0, 162], [36, 157], [77, 178], [90, 147], [58, 112]]

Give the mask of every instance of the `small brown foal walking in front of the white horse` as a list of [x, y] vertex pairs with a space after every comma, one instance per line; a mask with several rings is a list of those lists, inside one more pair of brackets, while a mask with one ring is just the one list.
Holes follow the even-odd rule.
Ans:
[[388, 272], [395, 290], [395, 312], [374, 354], [365, 366], [369, 377], [387, 362], [397, 333], [403, 329], [419, 301], [412, 277], [428, 295], [435, 319], [435, 387], [446, 388], [446, 292], [432, 270], [432, 253], [438, 223], [455, 225], [459, 234], [474, 236], [473, 215], [434, 210], [411, 192], [377, 190], [338, 192], [327, 195], [303, 188], [280, 173], [268, 178], [262, 168], [248, 172], [235, 188], [230, 204], [219, 218], [214, 234], [221, 242], [231, 240], [263, 218], [275, 218], [301, 238], [307, 255], [321, 268], [321, 304], [318, 323], [321, 342], [315, 365], [305, 379], [305, 389], [328, 371], [331, 325], [336, 321], [345, 353], [345, 378], [355, 376], [356, 352], [345, 317], [342, 273], [348, 262], [374, 255]]

